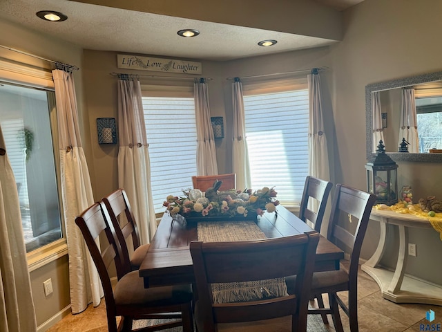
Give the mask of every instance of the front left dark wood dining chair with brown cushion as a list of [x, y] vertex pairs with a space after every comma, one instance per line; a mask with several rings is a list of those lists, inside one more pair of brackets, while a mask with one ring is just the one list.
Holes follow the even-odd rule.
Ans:
[[[120, 255], [115, 228], [109, 221], [106, 206], [100, 202], [90, 206], [75, 219], [83, 234], [90, 255], [97, 267], [102, 282], [108, 331], [132, 331], [135, 319], [159, 317], [178, 318], [175, 322], [149, 326], [137, 331], [159, 331], [183, 326], [183, 332], [193, 331], [192, 291], [190, 285], [144, 288], [143, 278], [138, 271], [131, 271], [124, 257]], [[99, 238], [100, 248], [95, 240]], [[106, 241], [107, 240], [107, 241]], [[115, 264], [117, 284], [112, 287], [108, 268]], [[117, 326], [117, 316], [122, 320]]]

